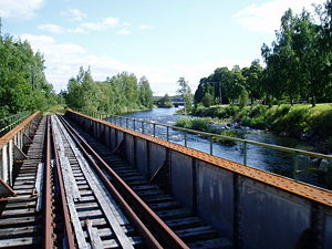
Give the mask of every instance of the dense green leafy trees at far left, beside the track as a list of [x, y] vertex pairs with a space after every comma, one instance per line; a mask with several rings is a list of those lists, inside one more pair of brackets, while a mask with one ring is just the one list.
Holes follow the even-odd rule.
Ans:
[[0, 24], [0, 116], [23, 110], [43, 111], [55, 103], [43, 63], [28, 41], [2, 35]]

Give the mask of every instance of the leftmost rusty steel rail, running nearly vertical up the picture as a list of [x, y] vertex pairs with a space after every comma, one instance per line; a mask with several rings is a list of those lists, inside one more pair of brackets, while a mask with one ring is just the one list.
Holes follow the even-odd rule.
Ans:
[[53, 248], [52, 227], [52, 186], [51, 186], [51, 131], [50, 116], [46, 117], [46, 164], [45, 164], [45, 200], [44, 200], [44, 248]]

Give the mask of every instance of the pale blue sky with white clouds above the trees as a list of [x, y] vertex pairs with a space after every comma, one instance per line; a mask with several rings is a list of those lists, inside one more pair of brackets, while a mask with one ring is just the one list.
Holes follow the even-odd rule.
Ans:
[[146, 76], [154, 95], [193, 91], [215, 69], [248, 66], [270, 44], [288, 8], [313, 12], [323, 0], [0, 0], [2, 33], [28, 40], [54, 90], [80, 66], [94, 80]]

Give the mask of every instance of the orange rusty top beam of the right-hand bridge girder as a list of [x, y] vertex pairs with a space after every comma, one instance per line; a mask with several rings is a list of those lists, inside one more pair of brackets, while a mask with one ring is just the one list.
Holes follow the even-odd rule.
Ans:
[[228, 159], [216, 157], [216, 156], [206, 154], [204, 152], [196, 151], [194, 148], [184, 147], [181, 145], [170, 143], [170, 142], [160, 139], [158, 137], [153, 137], [153, 136], [145, 135], [145, 134], [142, 134], [138, 132], [126, 129], [122, 126], [114, 125], [114, 124], [111, 124], [108, 122], [101, 121], [97, 118], [93, 118], [91, 116], [81, 114], [79, 112], [74, 112], [72, 110], [69, 110], [68, 112], [71, 112], [73, 114], [76, 114], [79, 116], [82, 116], [82, 117], [85, 117], [85, 118], [89, 118], [89, 120], [92, 120], [95, 122], [98, 122], [101, 124], [104, 124], [104, 125], [115, 128], [117, 131], [122, 131], [123, 133], [129, 134], [135, 137], [139, 137], [142, 139], [146, 139], [148, 142], [155, 143], [157, 145], [160, 145], [166, 148], [173, 149], [175, 152], [181, 153], [184, 155], [190, 156], [193, 158], [206, 162], [208, 164], [212, 164], [217, 167], [221, 167], [224, 169], [239, 174], [241, 176], [246, 176], [253, 180], [273, 186], [278, 189], [282, 189], [288, 193], [292, 193], [298, 196], [304, 197], [307, 199], [332, 207], [332, 193], [329, 190], [325, 190], [325, 189], [322, 189], [322, 188], [319, 188], [315, 186], [307, 185], [304, 183], [299, 183], [299, 181], [295, 181], [295, 180], [292, 180], [292, 179], [289, 179], [289, 178], [269, 173], [269, 172], [264, 172], [264, 170], [261, 170], [258, 168], [248, 167], [242, 164], [238, 164], [238, 163], [235, 163], [235, 162], [231, 162]]

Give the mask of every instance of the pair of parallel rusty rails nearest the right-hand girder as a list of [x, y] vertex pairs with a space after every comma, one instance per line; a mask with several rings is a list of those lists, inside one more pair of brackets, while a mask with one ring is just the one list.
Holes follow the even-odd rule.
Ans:
[[[169, 248], [188, 248], [188, 246], [138, 197], [138, 195], [110, 167], [108, 164], [82, 138], [82, 136], [63, 118], [60, 117], [63, 125], [68, 128], [68, 132], [76, 142], [82, 152], [86, 155], [86, 158], [96, 169], [98, 176], [103, 179], [107, 188], [112, 191], [114, 197], [124, 207], [125, 211], [132, 218], [133, 222], [137, 226], [142, 235], [151, 242], [153, 248], [163, 248], [158, 240], [163, 241], [163, 245]], [[144, 217], [145, 222], [148, 222], [149, 229], [154, 229], [158, 235], [158, 239], [152, 235], [151, 230], [142, 222], [141, 218], [134, 212], [127, 201], [123, 198], [122, 194], [114, 187], [111, 180], [105, 176], [101, 167], [90, 156], [92, 155], [101, 165], [103, 169], [112, 177], [116, 185], [121, 188], [131, 201], [131, 205], [136, 207], [136, 211], [139, 211]]]

